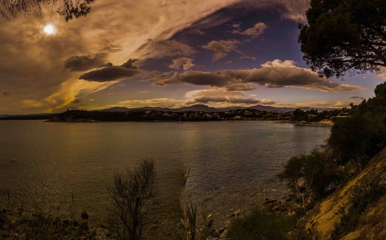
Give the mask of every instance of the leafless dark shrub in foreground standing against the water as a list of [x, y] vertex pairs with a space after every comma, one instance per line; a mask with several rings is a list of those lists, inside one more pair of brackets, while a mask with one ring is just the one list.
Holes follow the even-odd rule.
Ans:
[[158, 203], [154, 185], [156, 170], [152, 159], [144, 159], [134, 170], [114, 174], [109, 189], [112, 211], [107, 225], [120, 240], [139, 240], [146, 224], [146, 214]]

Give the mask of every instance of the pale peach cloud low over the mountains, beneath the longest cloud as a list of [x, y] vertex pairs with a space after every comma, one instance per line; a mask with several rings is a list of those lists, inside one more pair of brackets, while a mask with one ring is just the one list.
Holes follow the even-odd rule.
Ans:
[[274, 100], [258, 99], [256, 97], [247, 97], [242, 91], [228, 91], [225, 88], [211, 88], [202, 90], [193, 90], [185, 93], [186, 105], [191, 104], [209, 104], [216, 107], [228, 106], [249, 106], [256, 104], [274, 104]]

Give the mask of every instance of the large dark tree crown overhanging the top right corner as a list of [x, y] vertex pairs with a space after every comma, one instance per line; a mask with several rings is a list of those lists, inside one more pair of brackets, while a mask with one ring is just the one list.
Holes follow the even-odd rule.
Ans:
[[306, 16], [298, 40], [304, 60], [320, 76], [386, 67], [385, 0], [311, 0]]

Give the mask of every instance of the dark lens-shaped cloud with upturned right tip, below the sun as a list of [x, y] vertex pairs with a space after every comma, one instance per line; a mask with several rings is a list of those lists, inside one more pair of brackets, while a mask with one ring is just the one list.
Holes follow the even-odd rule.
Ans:
[[141, 71], [134, 66], [135, 59], [128, 59], [120, 66], [114, 66], [111, 62], [102, 69], [93, 70], [82, 74], [79, 79], [88, 81], [113, 81], [120, 78], [131, 77], [139, 74]]

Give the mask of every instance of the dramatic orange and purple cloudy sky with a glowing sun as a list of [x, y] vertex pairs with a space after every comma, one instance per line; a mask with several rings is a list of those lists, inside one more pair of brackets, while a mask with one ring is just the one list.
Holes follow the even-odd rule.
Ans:
[[112, 106], [343, 107], [383, 71], [326, 79], [302, 59], [308, 0], [96, 0], [68, 22], [0, 19], [0, 114]]

